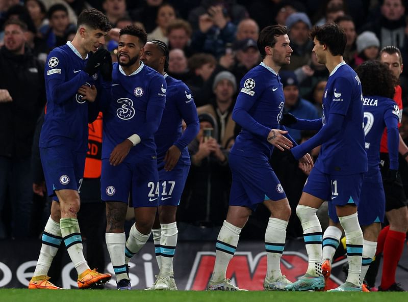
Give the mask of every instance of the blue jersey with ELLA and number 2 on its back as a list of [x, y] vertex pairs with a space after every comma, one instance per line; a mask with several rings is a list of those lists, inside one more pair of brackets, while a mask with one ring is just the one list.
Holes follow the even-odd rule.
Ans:
[[399, 121], [399, 107], [394, 100], [379, 96], [363, 96], [364, 132], [368, 157], [368, 173], [379, 171], [379, 147], [385, 121], [394, 118]]

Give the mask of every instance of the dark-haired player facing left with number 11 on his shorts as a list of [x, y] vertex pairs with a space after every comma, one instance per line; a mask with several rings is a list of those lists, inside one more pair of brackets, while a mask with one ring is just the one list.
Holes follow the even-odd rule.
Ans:
[[[309, 256], [305, 275], [287, 290], [324, 288], [322, 276], [322, 229], [316, 212], [323, 201], [336, 206], [347, 244], [348, 277], [334, 291], [361, 291], [360, 272], [363, 233], [357, 217], [363, 175], [367, 171], [364, 141], [362, 89], [358, 75], [343, 60], [346, 34], [335, 23], [311, 32], [313, 52], [330, 72], [323, 95], [323, 115], [317, 120], [294, 118], [295, 129], [319, 130], [310, 140], [292, 148], [295, 158], [322, 145], [315, 167], [306, 181], [296, 214], [303, 228]], [[286, 117], [285, 116], [284, 124]], [[288, 125], [288, 124], [287, 124]]]

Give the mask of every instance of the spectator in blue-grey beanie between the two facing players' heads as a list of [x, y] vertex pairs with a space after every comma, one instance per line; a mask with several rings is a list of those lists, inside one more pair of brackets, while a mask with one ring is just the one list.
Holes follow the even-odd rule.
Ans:
[[308, 65], [312, 53], [313, 41], [309, 39], [309, 30], [312, 24], [307, 14], [294, 13], [286, 19], [289, 30], [290, 46], [293, 52], [290, 64], [282, 67], [283, 70], [295, 70]]

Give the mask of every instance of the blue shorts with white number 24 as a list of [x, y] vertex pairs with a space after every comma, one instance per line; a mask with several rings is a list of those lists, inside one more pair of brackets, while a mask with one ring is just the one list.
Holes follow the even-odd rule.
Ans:
[[119, 201], [131, 207], [157, 207], [159, 205], [159, 174], [156, 159], [143, 159], [138, 163], [122, 162], [111, 166], [109, 159], [102, 160], [100, 190], [103, 201]]

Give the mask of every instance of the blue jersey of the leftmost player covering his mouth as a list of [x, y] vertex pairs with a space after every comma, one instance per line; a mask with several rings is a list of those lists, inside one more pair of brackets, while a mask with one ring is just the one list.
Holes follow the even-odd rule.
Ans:
[[88, 150], [88, 102], [77, 91], [82, 85], [95, 85], [98, 94], [104, 92], [100, 76], [90, 76], [83, 71], [87, 61], [69, 41], [48, 54], [45, 64], [47, 105], [40, 147], [64, 145], [74, 151]]

